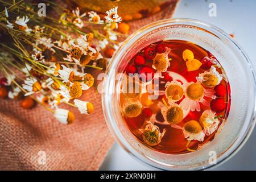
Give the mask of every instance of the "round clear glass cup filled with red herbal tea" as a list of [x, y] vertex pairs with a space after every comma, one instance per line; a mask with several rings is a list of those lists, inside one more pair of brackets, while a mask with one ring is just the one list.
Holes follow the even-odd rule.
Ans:
[[123, 42], [107, 72], [106, 123], [127, 152], [155, 168], [217, 166], [236, 154], [253, 130], [251, 62], [211, 24], [151, 23]]

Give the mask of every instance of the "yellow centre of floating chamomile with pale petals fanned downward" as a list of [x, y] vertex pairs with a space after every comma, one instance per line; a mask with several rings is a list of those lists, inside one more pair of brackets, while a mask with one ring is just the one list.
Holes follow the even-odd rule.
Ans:
[[199, 101], [204, 97], [204, 88], [199, 83], [193, 83], [187, 87], [186, 93], [191, 100]]

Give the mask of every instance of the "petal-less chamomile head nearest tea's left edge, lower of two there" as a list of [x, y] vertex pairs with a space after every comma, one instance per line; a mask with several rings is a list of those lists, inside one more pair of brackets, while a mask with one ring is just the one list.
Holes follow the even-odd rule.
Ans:
[[142, 104], [135, 98], [129, 98], [123, 104], [123, 113], [126, 117], [135, 118], [141, 114]]

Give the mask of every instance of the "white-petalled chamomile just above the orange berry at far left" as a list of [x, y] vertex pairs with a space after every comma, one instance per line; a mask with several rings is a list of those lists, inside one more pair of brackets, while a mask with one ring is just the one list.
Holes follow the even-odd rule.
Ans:
[[28, 91], [26, 94], [24, 94], [24, 96], [30, 96], [31, 94], [41, 90], [42, 85], [38, 82], [38, 80], [36, 80], [36, 78], [31, 77], [24, 81], [22, 88]]

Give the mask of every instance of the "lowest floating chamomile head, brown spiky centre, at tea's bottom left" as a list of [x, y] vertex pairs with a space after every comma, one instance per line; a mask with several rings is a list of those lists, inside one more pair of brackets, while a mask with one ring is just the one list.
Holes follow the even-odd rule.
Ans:
[[142, 138], [145, 143], [149, 146], [156, 146], [159, 144], [166, 133], [166, 129], [163, 129], [163, 132], [160, 133], [159, 127], [152, 124], [150, 121], [147, 121], [145, 129], [140, 129], [142, 133]]

